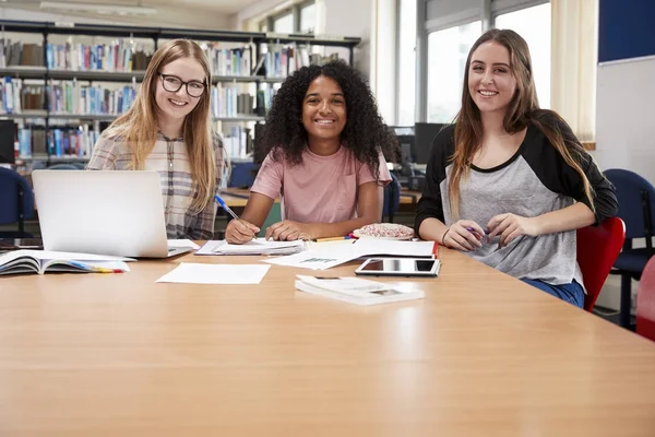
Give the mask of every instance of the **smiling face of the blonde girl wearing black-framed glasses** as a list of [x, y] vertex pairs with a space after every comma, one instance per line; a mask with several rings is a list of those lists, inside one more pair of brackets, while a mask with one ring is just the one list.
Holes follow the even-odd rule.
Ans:
[[189, 91], [198, 95], [200, 94], [199, 84], [205, 83], [205, 80], [204, 69], [193, 58], [180, 58], [162, 67], [155, 88], [155, 102], [162, 115], [170, 119], [183, 119], [198, 106], [202, 95], [199, 97], [189, 95], [184, 84], [175, 92], [167, 90], [177, 88], [180, 81], [192, 82], [188, 85]]

